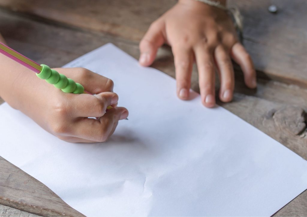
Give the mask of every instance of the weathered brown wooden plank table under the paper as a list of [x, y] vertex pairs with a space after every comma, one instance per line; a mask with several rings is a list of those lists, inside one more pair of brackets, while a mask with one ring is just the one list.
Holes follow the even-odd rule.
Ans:
[[[0, 0], [0, 32], [12, 48], [51, 67], [108, 42], [138, 58], [138, 42], [150, 23], [175, 3]], [[268, 12], [271, 4], [278, 6], [277, 14]], [[307, 159], [307, 2], [233, 0], [230, 5], [237, 5], [245, 18], [244, 45], [258, 70], [258, 88], [247, 89], [235, 66], [234, 100], [219, 104]], [[160, 49], [153, 67], [174, 77], [173, 56], [167, 46]], [[192, 88], [199, 91], [197, 79], [194, 68]], [[0, 157], [0, 215], [34, 214], [82, 215]], [[275, 215], [306, 216], [307, 191]]]

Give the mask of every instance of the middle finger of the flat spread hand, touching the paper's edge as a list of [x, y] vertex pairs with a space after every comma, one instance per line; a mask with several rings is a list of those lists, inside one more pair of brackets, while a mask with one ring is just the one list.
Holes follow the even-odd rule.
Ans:
[[208, 49], [198, 46], [194, 49], [198, 68], [199, 88], [204, 106], [215, 106], [215, 71], [212, 54]]

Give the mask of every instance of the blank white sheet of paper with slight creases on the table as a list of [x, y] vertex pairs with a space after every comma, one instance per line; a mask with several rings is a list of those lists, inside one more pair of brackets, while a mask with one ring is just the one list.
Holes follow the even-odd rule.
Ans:
[[[307, 161], [112, 44], [65, 65], [114, 80], [130, 110], [110, 140], [72, 144], [4, 103], [0, 154], [87, 216], [270, 216], [307, 188]], [[16, 135], [17, 134], [17, 135]]]

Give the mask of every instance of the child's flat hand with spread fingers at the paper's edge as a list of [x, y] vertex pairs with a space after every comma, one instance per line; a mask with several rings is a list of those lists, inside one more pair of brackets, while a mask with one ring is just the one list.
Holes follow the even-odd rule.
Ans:
[[221, 9], [195, 0], [179, 0], [153, 22], [143, 37], [140, 64], [152, 64], [163, 43], [172, 47], [180, 99], [189, 97], [194, 60], [202, 103], [206, 107], [215, 105], [215, 66], [220, 75], [220, 99], [231, 101], [235, 85], [231, 58], [241, 66], [246, 85], [250, 88], [257, 85], [251, 57], [238, 42], [230, 17]]

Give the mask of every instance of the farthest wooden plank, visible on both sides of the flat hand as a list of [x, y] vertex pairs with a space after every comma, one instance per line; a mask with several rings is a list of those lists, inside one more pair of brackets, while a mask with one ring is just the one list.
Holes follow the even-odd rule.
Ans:
[[[150, 23], [176, 0], [0, 0], [0, 6], [81, 29], [138, 42]], [[270, 4], [278, 7], [272, 14]], [[244, 45], [257, 70], [272, 79], [307, 87], [307, 2], [304, 0], [230, 0], [245, 19]]]

